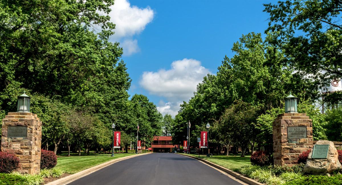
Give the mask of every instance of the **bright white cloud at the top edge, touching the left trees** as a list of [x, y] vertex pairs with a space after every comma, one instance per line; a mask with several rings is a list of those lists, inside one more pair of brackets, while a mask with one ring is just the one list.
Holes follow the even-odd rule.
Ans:
[[155, 12], [147, 6], [131, 6], [128, 0], [115, 0], [109, 12], [110, 21], [116, 24], [115, 38], [131, 37], [142, 32], [152, 22]]

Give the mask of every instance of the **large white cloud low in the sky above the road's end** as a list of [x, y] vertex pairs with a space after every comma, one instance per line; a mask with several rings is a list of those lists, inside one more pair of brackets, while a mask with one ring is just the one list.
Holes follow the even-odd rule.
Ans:
[[201, 62], [195, 59], [173, 61], [171, 69], [161, 69], [158, 72], [143, 72], [140, 85], [150, 94], [165, 97], [169, 102], [159, 102], [158, 110], [177, 114], [179, 105], [188, 101], [196, 91], [198, 83], [202, 82], [209, 70], [201, 66]]

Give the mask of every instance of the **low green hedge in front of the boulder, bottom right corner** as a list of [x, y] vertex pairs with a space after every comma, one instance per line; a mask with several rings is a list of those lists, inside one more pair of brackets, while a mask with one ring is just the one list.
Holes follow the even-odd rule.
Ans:
[[287, 182], [285, 185], [340, 185], [342, 184], [342, 175], [320, 176], [309, 175], [303, 176], [301, 179], [296, 179]]

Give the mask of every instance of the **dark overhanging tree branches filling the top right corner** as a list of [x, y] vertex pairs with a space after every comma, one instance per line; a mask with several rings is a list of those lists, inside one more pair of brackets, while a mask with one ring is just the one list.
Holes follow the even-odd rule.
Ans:
[[[270, 22], [265, 33], [274, 32], [270, 41], [282, 48], [284, 63], [295, 69], [298, 82], [305, 82], [311, 100], [332, 96], [325, 101], [341, 102], [341, 93], [320, 94], [342, 72], [342, 24], [339, 21], [342, 1], [287, 0], [264, 4]], [[309, 82], [309, 83], [308, 83]], [[297, 88], [298, 89], [298, 88]], [[307, 99], [306, 97], [305, 99]]]

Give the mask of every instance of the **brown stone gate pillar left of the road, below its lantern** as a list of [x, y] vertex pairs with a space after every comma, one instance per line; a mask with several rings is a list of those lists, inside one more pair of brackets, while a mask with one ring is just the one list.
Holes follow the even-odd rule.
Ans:
[[40, 171], [41, 136], [42, 122], [37, 114], [9, 112], [2, 119], [1, 151], [19, 158], [17, 171], [37, 174]]

